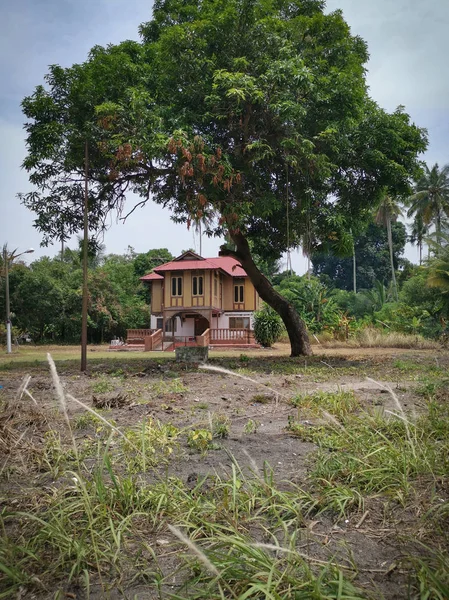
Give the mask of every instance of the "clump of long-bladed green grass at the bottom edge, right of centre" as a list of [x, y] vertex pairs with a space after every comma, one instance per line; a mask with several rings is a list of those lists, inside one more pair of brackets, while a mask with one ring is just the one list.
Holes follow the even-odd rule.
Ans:
[[261, 543], [219, 525], [201, 541], [195, 529], [190, 529], [191, 539], [175, 528], [172, 531], [191, 552], [185, 558], [188, 583], [171, 594], [173, 600], [366, 599], [337, 567], [310, 561], [297, 550], [295, 532], [284, 536], [281, 544], [275, 536]]

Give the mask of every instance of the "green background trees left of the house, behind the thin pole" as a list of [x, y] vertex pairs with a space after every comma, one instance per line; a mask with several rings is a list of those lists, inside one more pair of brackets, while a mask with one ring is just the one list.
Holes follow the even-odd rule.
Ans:
[[[159, 253], [159, 250], [153, 252]], [[129, 248], [124, 255], [110, 254], [99, 262], [91, 261], [88, 272], [89, 342], [101, 343], [114, 336], [125, 337], [127, 329], [149, 326], [147, 293], [136, 274], [135, 262], [141, 264], [139, 257]], [[42, 257], [29, 267], [13, 264], [9, 280], [16, 333], [27, 332], [35, 342], [79, 341], [82, 283], [79, 252], [66, 248], [63, 256]], [[3, 278], [0, 304], [0, 310], [4, 311]]]

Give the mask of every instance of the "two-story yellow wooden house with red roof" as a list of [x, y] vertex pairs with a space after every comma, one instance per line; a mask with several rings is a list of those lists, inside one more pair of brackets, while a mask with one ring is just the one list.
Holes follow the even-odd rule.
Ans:
[[231, 343], [252, 330], [260, 298], [240, 263], [185, 252], [141, 277], [151, 285], [151, 329], [192, 341], [210, 330], [211, 343]]

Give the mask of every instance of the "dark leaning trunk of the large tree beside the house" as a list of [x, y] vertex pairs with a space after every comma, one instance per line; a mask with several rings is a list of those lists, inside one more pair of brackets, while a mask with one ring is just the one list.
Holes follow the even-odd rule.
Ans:
[[231, 236], [236, 249], [235, 251], [232, 251], [223, 248], [220, 251], [220, 254], [222, 256], [233, 256], [240, 261], [259, 296], [279, 314], [284, 322], [290, 339], [290, 356], [310, 356], [312, 354], [312, 349], [310, 347], [309, 336], [307, 335], [304, 321], [300, 318], [290, 302], [276, 292], [268, 279], [256, 267], [245, 236], [236, 232], [230, 232], [229, 235]]

